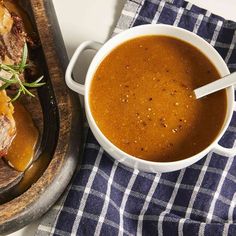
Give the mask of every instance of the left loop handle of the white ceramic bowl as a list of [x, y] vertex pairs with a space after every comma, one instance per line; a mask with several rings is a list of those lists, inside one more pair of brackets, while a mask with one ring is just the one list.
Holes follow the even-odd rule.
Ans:
[[65, 74], [66, 84], [71, 90], [73, 90], [81, 95], [84, 95], [84, 92], [85, 92], [84, 85], [74, 81], [72, 78], [72, 72], [73, 72], [75, 63], [76, 63], [78, 57], [81, 55], [81, 53], [84, 50], [87, 50], [87, 49], [98, 50], [101, 46], [102, 46], [102, 44], [95, 42], [95, 41], [85, 41], [77, 47], [73, 56], [70, 59], [70, 62], [67, 66], [66, 74]]

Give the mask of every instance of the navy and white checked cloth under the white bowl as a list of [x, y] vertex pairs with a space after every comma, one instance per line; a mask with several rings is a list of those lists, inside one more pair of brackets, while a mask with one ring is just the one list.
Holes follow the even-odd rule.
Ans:
[[[236, 23], [182, 0], [128, 0], [115, 33], [135, 25], [176, 25], [203, 37], [236, 70]], [[220, 143], [233, 147], [236, 112]], [[165, 174], [114, 161], [89, 131], [84, 159], [36, 235], [236, 235], [236, 158], [210, 152]]]

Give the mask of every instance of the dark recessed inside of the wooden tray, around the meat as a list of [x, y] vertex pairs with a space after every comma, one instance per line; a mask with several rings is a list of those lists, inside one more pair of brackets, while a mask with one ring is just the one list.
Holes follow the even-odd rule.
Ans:
[[[37, 30], [34, 25], [32, 9], [29, 1], [19, 1], [18, 4], [19, 7], [27, 14], [27, 17], [29, 17], [29, 21], [33, 27], [33, 32], [37, 37]], [[30, 109], [28, 110], [32, 113], [32, 118], [35, 125], [39, 129], [40, 138], [35, 151], [35, 158], [31, 165], [24, 173], [19, 173], [19, 177], [15, 180], [15, 182], [11, 183], [10, 186], [2, 189], [0, 188], [0, 204], [4, 204], [19, 196], [40, 178], [53, 157], [58, 140], [58, 106], [40, 43], [39, 46], [32, 49], [30, 53], [33, 61], [37, 64], [37, 69], [39, 70], [38, 73], [44, 76], [44, 82], [46, 82], [46, 85], [37, 89], [36, 98], [28, 101], [28, 105], [29, 102], [33, 103], [29, 105]]]

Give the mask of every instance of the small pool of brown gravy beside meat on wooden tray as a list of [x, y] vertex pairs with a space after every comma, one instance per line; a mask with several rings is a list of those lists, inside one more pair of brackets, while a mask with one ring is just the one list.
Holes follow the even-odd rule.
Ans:
[[19, 102], [14, 103], [13, 116], [17, 133], [8, 150], [6, 159], [14, 169], [24, 171], [34, 157], [35, 145], [39, 134], [31, 115]]

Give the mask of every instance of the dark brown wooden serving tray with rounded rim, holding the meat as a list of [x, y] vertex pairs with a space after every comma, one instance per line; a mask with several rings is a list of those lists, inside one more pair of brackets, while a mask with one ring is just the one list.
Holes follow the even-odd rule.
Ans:
[[38, 99], [26, 101], [40, 131], [35, 161], [20, 173], [0, 160], [0, 234], [42, 216], [63, 193], [81, 159], [82, 109], [78, 95], [64, 81], [68, 58], [53, 3], [18, 2], [40, 40], [34, 57], [46, 85], [38, 89]]

